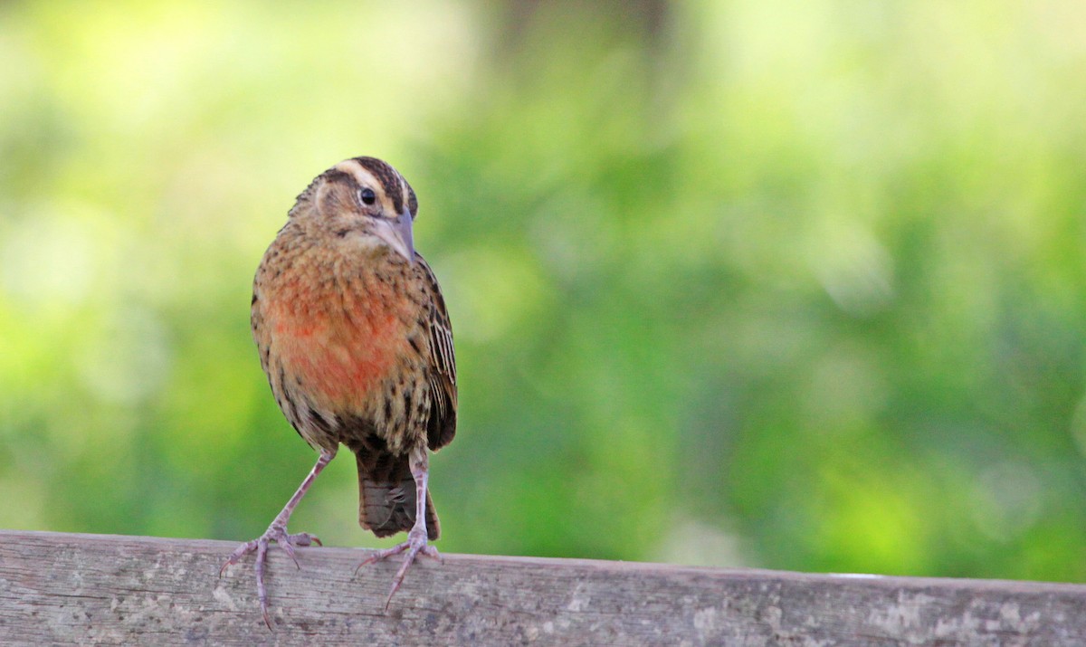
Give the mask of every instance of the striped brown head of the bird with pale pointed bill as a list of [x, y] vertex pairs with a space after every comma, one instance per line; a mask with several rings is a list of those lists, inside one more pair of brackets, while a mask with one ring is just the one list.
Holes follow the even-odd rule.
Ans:
[[318, 175], [298, 196], [290, 219], [346, 244], [379, 253], [391, 249], [415, 262], [415, 191], [376, 157], [353, 157]]

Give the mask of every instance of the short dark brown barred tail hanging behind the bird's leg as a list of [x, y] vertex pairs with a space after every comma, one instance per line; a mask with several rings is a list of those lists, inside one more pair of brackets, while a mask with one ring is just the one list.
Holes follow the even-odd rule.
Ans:
[[[371, 456], [363, 458], [359, 453], [356, 458], [358, 523], [379, 537], [411, 530], [415, 524], [418, 497], [407, 457], [383, 454], [375, 461]], [[426, 493], [426, 532], [430, 541], [441, 534], [429, 491]]]

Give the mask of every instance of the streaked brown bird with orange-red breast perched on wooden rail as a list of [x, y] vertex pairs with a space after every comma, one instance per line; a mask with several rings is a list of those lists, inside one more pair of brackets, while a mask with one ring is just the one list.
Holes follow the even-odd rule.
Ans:
[[[298, 195], [253, 280], [251, 324], [261, 367], [283, 416], [316, 464], [260, 537], [219, 570], [255, 553], [256, 589], [268, 629], [266, 556], [272, 543], [294, 561], [321, 545], [287, 522], [341, 445], [358, 468], [358, 522], [407, 541], [359, 566], [404, 554], [384, 608], [440, 534], [429, 491], [429, 452], [456, 433], [453, 332], [433, 270], [415, 251], [418, 200], [376, 157], [344, 160]], [[357, 572], [357, 570], [356, 570]]]

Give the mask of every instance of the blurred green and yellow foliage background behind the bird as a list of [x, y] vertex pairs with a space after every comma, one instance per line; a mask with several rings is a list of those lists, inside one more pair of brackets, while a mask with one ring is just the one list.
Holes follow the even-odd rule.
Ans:
[[[456, 332], [447, 551], [1086, 579], [1086, 8], [0, 5], [0, 527], [248, 540], [249, 337], [389, 160]], [[358, 529], [341, 456], [292, 529]], [[388, 542], [384, 542], [388, 543]]]

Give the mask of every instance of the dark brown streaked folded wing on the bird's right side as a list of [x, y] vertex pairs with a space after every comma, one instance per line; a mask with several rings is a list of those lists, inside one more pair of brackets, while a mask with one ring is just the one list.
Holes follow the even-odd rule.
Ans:
[[453, 327], [449, 321], [445, 300], [433, 270], [420, 254], [415, 261], [422, 268], [430, 296], [430, 414], [427, 420], [427, 444], [437, 451], [456, 435], [456, 355], [453, 352]]

